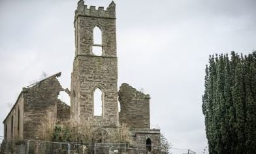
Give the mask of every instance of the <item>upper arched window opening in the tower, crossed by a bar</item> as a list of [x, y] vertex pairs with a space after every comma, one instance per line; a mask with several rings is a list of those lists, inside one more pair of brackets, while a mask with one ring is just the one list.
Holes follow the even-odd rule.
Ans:
[[102, 31], [99, 26], [93, 29], [93, 54], [101, 56], [103, 54]]

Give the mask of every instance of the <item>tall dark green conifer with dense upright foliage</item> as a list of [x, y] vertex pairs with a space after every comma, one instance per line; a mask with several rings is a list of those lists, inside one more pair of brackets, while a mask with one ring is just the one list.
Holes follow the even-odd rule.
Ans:
[[209, 153], [255, 153], [256, 52], [210, 56], [204, 85]]

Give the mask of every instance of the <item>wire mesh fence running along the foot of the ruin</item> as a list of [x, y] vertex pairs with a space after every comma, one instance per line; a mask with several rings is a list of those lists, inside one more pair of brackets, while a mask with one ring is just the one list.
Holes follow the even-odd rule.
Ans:
[[[66, 142], [46, 142], [40, 140], [25, 140], [3, 142], [2, 153], [18, 154], [142, 154], [148, 153], [145, 148], [134, 147], [129, 144], [79, 144]], [[1, 146], [1, 148], [2, 148]], [[156, 148], [154, 148], [156, 149]], [[0, 153], [1, 153], [0, 152]], [[161, 153], [154, 151], [152, 153]]]

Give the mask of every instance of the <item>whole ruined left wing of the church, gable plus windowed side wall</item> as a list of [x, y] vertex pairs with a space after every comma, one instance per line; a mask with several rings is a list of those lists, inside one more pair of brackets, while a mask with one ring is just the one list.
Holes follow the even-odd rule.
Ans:
[[3, 122], [7, 142], [36, 138], [41, 129], [40, 122], [50, 113], [61, 121], [69, 119], [70, 107], [57, 99], [59, 91], [64, 90], [59, 84], [57, 76], [60, 76], [60, 73], [50, 76], [32, 87], [23, 88], [14, 107]]

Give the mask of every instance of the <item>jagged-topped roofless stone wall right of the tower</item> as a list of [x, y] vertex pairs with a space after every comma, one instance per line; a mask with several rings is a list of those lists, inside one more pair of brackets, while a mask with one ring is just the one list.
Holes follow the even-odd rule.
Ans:
[[150, 95], [145, 95], [128, 84], [121, 84], [118, 95], [120, 123], [126, 123], [131, 129], [150, 129]]

